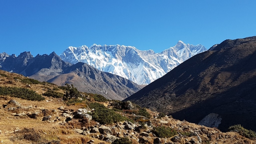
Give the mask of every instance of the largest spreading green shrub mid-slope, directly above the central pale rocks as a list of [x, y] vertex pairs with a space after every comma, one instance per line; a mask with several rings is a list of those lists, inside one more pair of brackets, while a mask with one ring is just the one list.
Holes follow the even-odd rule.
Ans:
[[116, 113], [113, 109], [108, 109], [104, 105], [99, 103], [88, 104], [89, 108], [93, 108], [92, 119], [99, 122], [100, 124], [112, 124], [128, 120], [128, 118]]

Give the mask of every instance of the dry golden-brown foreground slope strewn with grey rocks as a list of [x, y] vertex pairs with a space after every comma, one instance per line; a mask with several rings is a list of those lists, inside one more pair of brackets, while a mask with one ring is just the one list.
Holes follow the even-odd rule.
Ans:
[[[13, 79], [13, 76], [18, 76], [20, 79], [25, 77], [18, 74], [4, 74], [1, 73], [0, 86], [28, 88], [38, 94], [57, 87], [51, 84], [28, 86]], [[64, 93], [61, 90], [60, 92]], [[148, 109], [145, 113], [149, 114], [149, 118], [138, 116], [134, 113], [136, 106], [130, 102], [98, 102], [90, 95], [81, 94], [76, 100], [83, 102], [67, 105], [60, 98], [43, 97], [45, 100], [32, 101], [0, 95], [1, 143], [107, 144], [115, 143], [116, 139], [128, 138], [130, 143], [134, 144], [256, 144], [255, 140], [245, 138], [237, 132], [223, 133], [216, 128], [176, 120], [172, 116], [164, 116]], [[100, 124], [92, 116], [97, 109], [88, 106], [92, 103], [100, 103], [109, 109], [117, 108], [116, 103], [119, 103], [122, 106], [115, 113], [127, 117], [127, 120]], [[166, 133], [157, 133], [157, 128], [170, 128], [172, 136], [161, 137]]]

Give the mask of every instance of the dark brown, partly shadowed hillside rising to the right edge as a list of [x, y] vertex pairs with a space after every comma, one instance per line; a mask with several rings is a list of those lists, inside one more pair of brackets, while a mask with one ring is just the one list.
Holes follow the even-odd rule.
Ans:
[[192, 123], [214, 117], [222, 131], [234, 124], [255, 131], [255, 57], [256, 36], [225, 40], [125, 100]]

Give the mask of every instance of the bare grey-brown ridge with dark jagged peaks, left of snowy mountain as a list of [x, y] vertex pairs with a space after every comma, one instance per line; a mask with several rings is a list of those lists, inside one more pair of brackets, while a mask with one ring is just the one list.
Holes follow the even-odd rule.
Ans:
[[141, 89], [130, 80], [101, 72], [88, 64], [64, 62], [55, 52], [36, 57], [30, 52], [22, 52], [18, 57], [6, 56], [0, 69], [57, 85], [74, 84], [80, 91], [98, 93], [108, 99], [123, 100]]

